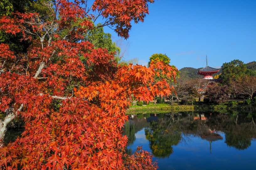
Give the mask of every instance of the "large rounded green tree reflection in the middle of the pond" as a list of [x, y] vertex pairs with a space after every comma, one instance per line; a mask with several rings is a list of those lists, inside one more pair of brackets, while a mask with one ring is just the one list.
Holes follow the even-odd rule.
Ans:
[[145, 128], [146, 139], [152, 154], [158, 158], [168, 157], [173, 153], [173, 145], [177, 145], [181, 140], [181, 133], [170, 127], [170, 119], [160, 119], [152, 121], [149, 128]]

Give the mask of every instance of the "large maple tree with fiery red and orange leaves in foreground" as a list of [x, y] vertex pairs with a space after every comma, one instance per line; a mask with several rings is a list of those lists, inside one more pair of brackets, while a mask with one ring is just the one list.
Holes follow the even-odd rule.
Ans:
[[[131, 96], [149, 101], [173, 88], [155, 75], [177, 72], [161, 62], [118, 67], [114, 53], [83, 41], [94, 29], [95, 13], [121, 37], [129, 37], [131, 21], [143, 22], [152, 0], [56, 0], [46, 4], [47, 20], [38, 13], [0, 18], [0, 30], [31, 41], [27, 53], [14, 55], [0, 44], [0, 139], [7, 124], [21, 116], [22, 136], [1, 142], [1, 169], [156, 169], [152, 156], [125, 154], [121, 127]], [[44, 17], [45, 18], [45, 17]]]

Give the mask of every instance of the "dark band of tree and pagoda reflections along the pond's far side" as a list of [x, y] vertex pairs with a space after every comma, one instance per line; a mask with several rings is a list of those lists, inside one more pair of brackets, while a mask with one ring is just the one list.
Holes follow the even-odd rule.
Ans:
[[[186, 143], [191, 136], [209, 142], [209, 152], [215, 141], [223, 140], [228, 147], [244, 150], [256, 138], [255, 113], [199, 113], [170, 112], [129, 115], [124, 134], [129, 145], [136, 140], [135, 134], [144, 128], [150, 152], [156, 158], [168, 158], [173, 147]], [[129, 147], [128, 147], [129, 148]]]

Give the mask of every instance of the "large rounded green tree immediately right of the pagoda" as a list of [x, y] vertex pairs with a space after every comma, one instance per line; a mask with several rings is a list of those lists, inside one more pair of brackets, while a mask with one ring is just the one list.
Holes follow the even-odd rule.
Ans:
[[222, 73], [219, 78], [223, 79], [222, 84], [230, 85], [232, 80], [237, 80], [245, 75], [246, 65], [240, 60], [233, 60], [229, 63], [223, 63]]

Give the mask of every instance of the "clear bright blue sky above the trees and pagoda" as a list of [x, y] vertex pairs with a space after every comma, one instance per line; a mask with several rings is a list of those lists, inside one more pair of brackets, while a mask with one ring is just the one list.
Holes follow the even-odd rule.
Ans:
[[[159, 0], [143, 23], [132, 24], [130, 58], [146, 65], [154, 53], [170, 65], [220, 68], [234, 59], [256, 61], [256, 0]], [[100, 21], [99, 21], [100, 22]], [[108, 27], [104, 32], [117, 34]]]

